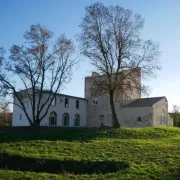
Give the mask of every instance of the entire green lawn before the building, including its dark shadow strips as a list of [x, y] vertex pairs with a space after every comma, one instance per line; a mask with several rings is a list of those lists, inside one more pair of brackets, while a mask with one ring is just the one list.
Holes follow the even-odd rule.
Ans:
[[4, 131], [0, 179], [180, 179], [178, 128]]

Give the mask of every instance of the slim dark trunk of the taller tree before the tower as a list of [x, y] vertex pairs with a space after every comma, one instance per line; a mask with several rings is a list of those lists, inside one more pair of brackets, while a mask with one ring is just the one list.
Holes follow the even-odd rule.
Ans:
[[116, 110], [114, 107], [114, 99], [113, 99], [114, 93], [113, 91], [110, 91], [110, 104], [111, 104], [111, 111], [112, 111], [112, 123], [114, 128], [119, 128], [120, 124], [118, 122], [118, 118], [116, 116]]

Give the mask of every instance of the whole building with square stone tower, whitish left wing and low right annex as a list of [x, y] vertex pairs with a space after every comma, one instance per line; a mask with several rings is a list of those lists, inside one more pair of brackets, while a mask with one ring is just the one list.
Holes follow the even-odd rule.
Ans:
[[[125, 74], [128, 71], [124, 72]], [[168, 126], [168, 102], [166, 97], [141, 98], [141, 72], [135, 72], [134, 79], [126, 80], [124, 84], [136, 85], [137, 88], [117, 90], [114, 96], [116, 114], [123, 127]], [[93, 92], [93, 81], [106, 81], [105, 76], [92, 73], [85, 78], [84, 98], [57, 94], [47, 115], [41, 121], [41, 126], [112, 126], [112, 113], [107, 92]], [[47, 92], [44, 92], [44, 98]], [[16, 101], [16, 99], [14, 99]], [[32, 114], [30, 102], [26, 100], [28, 114]], [[13, 106], [13, 126], [28, 126], [29, 122], [23, 111]]]

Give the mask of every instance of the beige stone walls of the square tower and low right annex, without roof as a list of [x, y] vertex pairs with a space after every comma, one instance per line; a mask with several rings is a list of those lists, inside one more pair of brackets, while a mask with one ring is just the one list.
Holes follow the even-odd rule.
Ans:
[[[128, 71], [124, 71], [127, 74]], [[141, 72], [135, 72], [135, 80], [128, 79], [132, 85], [137, 84], [141, 86]], [[93, 79], [96, 81], [104, 81], [104, 76], [99, 76], [98, 73], [92, 73], [92, 76], [85, 78], [85, 98], [88, 99], [87, 105], [87, 118], [88, 126], [99, 127], [112, 126], [112, 112], [110, 106], [109, 95], [101, 93], [101, 96], [95, 96], [92, 93]], [[126, 93], [126, 94], [125, 94]], [[141, 99], [141, 92], [136, 88], [116, 91], [114, 95], [114, 104], [116, 115], [119, 123], [123, 127], [147, 127], [147, 126], [167, 126], [169, 123], [168, 118], [168, 102], [166, 98], [156, 102], [152, 105], [142, 105], [140, 107], [127, 107], [126, 105]], [[149, 100], [147, 100], [149, 101]], [[170, 124], [170, 123], [169, 123]]]

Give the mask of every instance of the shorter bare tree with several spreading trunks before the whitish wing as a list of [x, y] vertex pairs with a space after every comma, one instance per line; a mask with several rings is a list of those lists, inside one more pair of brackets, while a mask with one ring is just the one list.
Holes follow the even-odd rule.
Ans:
[[[52, 38], [51, 31], [37, 24], [25, 32], [24, 46], [11, 47], [9, 59], [3, 58], [1, 48], [3, 96], [14, 96], [17, 101], [8, 104], [21, 108], [31, 126], [40, 125], [56, 94], [70, 81], [72, 67], [77, 63], [72, 41], [65, 35], [54, 42]], [[26, 103], [30, 103], [31, 116]]]

